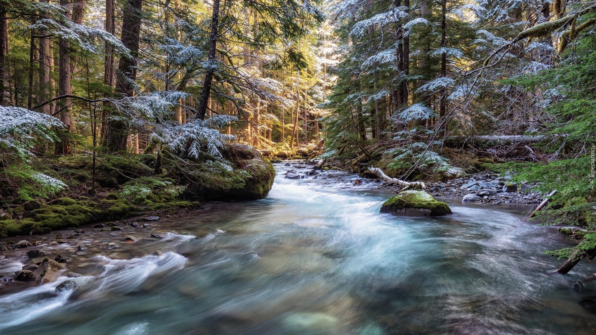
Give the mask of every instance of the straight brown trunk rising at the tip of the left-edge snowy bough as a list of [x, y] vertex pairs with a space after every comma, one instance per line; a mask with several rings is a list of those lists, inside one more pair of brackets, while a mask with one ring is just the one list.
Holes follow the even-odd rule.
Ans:
[[[64, 7], [64, 15], [70, 20], [72, 10], [72, 2], [68, 0], [60, 1], [60, 5]], [[72, 94], [70, 86], [70, 42], [66, 38], [60, 38], [58, 41], [58, 52], [60, 53], [58, 66], [58, 90], [60, 95]], [[57, 108], [60, 111], [60, 121], [66, 126], [64, 132], [70, 132], [72, 126], [72, 108], [70, 107], [70, 98], [58, 100]], [[55, 154], [70, 154], [70, 143], [68, 135], [60, 137], [60, 142], [56, 143]]]

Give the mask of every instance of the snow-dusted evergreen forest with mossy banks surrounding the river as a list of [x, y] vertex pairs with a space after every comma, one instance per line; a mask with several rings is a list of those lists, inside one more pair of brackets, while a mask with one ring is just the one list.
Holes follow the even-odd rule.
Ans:
[[596, 256], [595, 111], [596, 1], [0, 0], [0, 238], [209, 216], [331, 171], [531, 204], [569, 235], [536, 257], [567, 274]]

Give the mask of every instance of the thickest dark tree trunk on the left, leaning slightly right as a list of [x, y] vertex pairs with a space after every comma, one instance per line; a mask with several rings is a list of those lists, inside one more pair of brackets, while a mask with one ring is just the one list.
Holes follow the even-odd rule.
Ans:
[[[126, 97], [135, 94], [136, 63], [139, 54], [141, 34], [142, 0], [126, 0], [122, 18], [122, 44], [131, 52], [131, 57], [120, 57], [116, 73], [116, 91]], [[123, 115], [120, 115], [124, 117]], [[129, 125], [123, 118], [112, 119], [108, 125], [106, 143], [108, 150], [124, 151], [128, 143]]]

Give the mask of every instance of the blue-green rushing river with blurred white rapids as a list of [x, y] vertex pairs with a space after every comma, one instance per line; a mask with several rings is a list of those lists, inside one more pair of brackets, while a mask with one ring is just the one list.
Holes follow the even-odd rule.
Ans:
[[[268, 198], [158, 221], [163, 240], [134, 228], [141, 240], [107, 249], [122, 232], [95, 229], [88, 251], [38, 246], [73, 256], [83, 277], [0, 287], [0, 334], [594, 333], [591, 266], [553, 274], [562, 260], [542, 252], [572, 241], [523, 221], [527, 208], [451, 201], [442, 218], [393, 216], [378, 213], [390, 193], [365, 190], [374, 182], [276, 168]], [[15, 255], [0, 274], [27, 262]], [[55, 293], [66, 279], [77, 288]]]

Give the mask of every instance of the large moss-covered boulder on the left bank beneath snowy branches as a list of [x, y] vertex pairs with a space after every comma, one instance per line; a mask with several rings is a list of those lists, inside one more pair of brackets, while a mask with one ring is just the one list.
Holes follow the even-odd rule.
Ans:
[[226, 145], [222, 154], [233, 165], [233, 170], [222, 171], [221, 178], [209, 176], [190, 180], [186, 197], [206, 201], [256, 200], [269, 194], [275, 179], [275, 169], [259, 151], [250, 145], [232, 143]]

